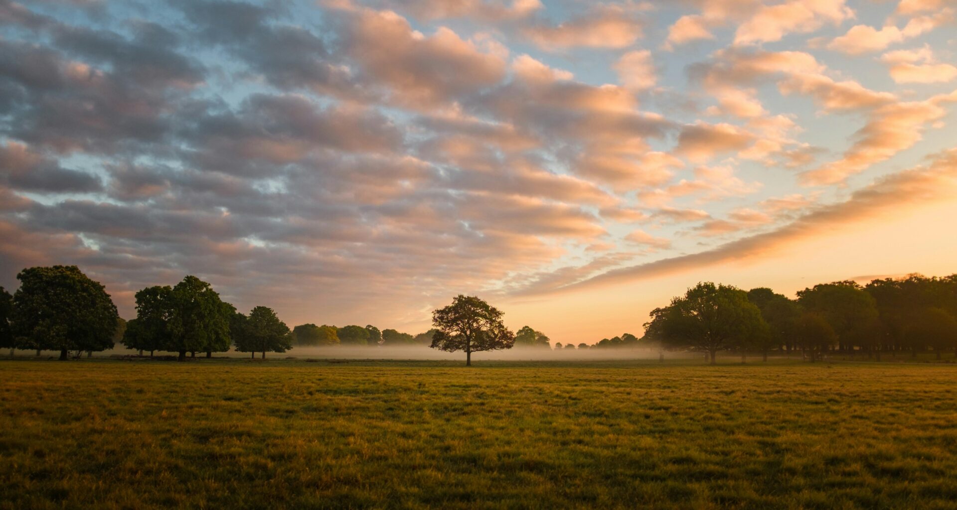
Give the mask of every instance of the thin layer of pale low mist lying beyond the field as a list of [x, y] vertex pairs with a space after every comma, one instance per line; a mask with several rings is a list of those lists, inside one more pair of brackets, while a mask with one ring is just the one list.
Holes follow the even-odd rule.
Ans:
[[[43, 351], [42, 356], [56, 356], [58, 352]], [[115, 357], [115, 356], [135, 356], [136, 350], [127, 349], [120, 345], [117, 348], [94, 352], [94, 358]], [[17, 357], [35, 356], [35, 351], [18, 350]], [[144, 353], [149, 356], [149, 353]], [[155, 356], [175, 356], [175, 352], [156, 351]], [[188, 355], [189, 356], [189, 355]], [[249, 358], [248, 352], [213, 352], [215, 358]], [[256, 353], [256, 359], [259, 359], [261, 353]], [[86, 353], [83, 353], [86, 357]], [[197, 352], [196, 358], [205, 358], [205, 352]], [[699, 357], [693, 353], [683, 352], [665, 352], [665, 359], [677, 358], [695, 358]], [[446, 360], [446, 361], [465, 361], [464, 352], [443, 352], [427, 346], [386, 346], [379, 345], [369, 347], [366, 345], [333, 345], [317, 347], [293, 347], [286, 352], [267, 352], [267, 360], [295, 359], [346, 359], [346, 360]], [[657, 349], [645, 348], [590, 348], [590, 349], [547, 349], [534, 347], [516, 347], [507, 350], [491, 352], [473, 352], [473, 361], [496, 360], [496, 361], [599, 361], [599, 360], [648, 360], [657, 359]]]

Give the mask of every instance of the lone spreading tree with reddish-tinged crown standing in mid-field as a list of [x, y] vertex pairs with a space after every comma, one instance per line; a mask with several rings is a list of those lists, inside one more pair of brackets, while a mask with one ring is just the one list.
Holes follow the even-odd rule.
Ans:
[[502, 313], [474, 296], [456, 296], [452, 304], [432, 313], [435, 333], [431, 347], [446, 352], [465, 351], [465, 365], [472, 366], [472, 353], [510, 349], [515, 334], [501, 322]]

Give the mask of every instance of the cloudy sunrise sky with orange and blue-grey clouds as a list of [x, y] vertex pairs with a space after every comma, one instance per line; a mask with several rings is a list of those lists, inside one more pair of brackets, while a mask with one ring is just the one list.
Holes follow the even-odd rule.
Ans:
[[957, 0], [0, 0], [0, 285], [562, 343], [957, 272]]

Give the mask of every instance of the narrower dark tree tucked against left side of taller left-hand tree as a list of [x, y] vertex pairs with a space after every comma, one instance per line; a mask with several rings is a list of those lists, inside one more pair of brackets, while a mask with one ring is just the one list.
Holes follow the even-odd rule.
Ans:
[[160, 350], [167, 343], [169, 321], [174, 314], [172, 287], [155, 285], [137, 292], [136, 319], [126, 323], [122, 344], [143, 354]]

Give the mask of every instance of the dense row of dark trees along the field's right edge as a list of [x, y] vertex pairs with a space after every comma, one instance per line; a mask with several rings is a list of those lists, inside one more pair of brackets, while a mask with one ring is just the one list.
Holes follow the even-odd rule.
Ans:
[[742, 354], [800, 350], [820, 360], [829, 352], [913, 356], [927, 349], [940, 359], [957, 349], [957, 275], [882, 278], [821, 283], [797, 299], [760, 287], [699, 283], [656, 308], [645, 324], [643, 344], [705, 353]]

